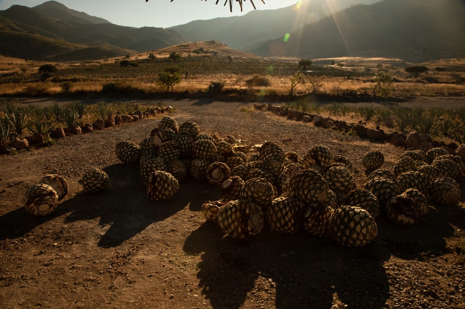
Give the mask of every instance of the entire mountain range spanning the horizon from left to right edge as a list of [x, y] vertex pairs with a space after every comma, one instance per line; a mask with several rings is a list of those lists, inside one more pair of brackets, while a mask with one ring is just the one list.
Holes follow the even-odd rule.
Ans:
[[169, 29], [118, 26], [57, 1], [35, 7], [12, 5], [0, 11], [0, 53], [82, 61], [213, 40], [263, 57], [359, 56], [422, 62], [465, 55], [463, 0], [356, 2], [302, 0], [281, 9]]

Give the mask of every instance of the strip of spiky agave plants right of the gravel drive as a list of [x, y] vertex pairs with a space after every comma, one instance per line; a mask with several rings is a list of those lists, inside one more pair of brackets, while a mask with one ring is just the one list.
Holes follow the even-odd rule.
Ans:
[[459, 144], [465, 143], [465, 107], [458, 109], [424, 108], [422, 106], [384, 108], [364, 105], [353, 108], [344, 106], [340, 102], [321, 106], [308, 97], [292, 101], [288, 107], [306, 113], [326, 112], [333, 116], [372, 121], [404, 134], [416, 131], [431, 136], [448, 137]]

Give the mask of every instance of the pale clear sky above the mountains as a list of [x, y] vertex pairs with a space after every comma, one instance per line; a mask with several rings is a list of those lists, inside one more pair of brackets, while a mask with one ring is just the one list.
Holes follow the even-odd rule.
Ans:
[[[244, 15], [253, 10], [250, 0], [243, 1], [243, 11], [239, 3], [233, 0], [233, 13], [226, 0], [57, 0], [73, 10], [85, 12], [92, 16], [104, 18], [111, 23], [130, 27], [162, 27], [186, 24], [192, 20], [213, 19]], [[277, 9], [290, 6], [298, 0], [253, 0], [259, 10]], [[13, 4], [36, 6], [46, 0], [0, 0], [0, 10]]]

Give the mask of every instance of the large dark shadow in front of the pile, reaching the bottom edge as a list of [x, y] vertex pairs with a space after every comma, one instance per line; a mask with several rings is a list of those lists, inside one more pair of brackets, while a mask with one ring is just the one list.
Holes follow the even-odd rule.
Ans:
[[304, 230], [288, 235], [265, 226], [237, 240], [205, 222], [183, 250], [202, 254], [197, 277], [213, 308], [329, 309], [335, 295], [348, 308], [382, 308], [389, 292], [385, 257], [376, 246], [346, 249]]

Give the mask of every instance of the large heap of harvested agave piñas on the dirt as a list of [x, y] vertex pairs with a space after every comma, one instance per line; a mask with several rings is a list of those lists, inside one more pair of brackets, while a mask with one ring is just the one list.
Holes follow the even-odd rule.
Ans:
[[235, 238], [256, 235], [266, 223], [274, 231], [294, 233], [303, 226], [342, 246], [364, 246], [377, 236], [375, 219], [382, 212], [411, 224], [426, 215], [430, 200], [457, 204], [460, 187], [454, 178], [465, 172], [461, 158], [442, 148], [407, 151], [394, 171], [380, 169], [384, 156], [372, 151], [363, 165], [373, 172], [364, 188], [356, 188], [352, 163], [325, 146], [311, 147], [301, 158], [266, 142], [246, 154], [233, 136], [201, 133], [195, 123], [178, 126], [170, 117], [150, 135], [140, 144], [116, 145], [119, 160], [139, 164], [147, 196], [167, 200], [179, 181], [206, 179], [219, 187], [222, 199], [203, 204], [204, 216]]

